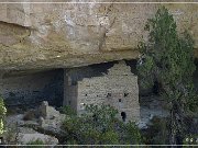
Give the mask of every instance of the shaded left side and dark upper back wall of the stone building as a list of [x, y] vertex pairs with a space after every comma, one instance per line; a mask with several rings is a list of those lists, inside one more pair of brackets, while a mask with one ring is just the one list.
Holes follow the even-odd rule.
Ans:
[[64, 105], [70, 105], [77, 110], [77, 94], [78, 86], [82, 79], [97, 77], [107, 73], [107, 69], [113, 66], [113, 62], [106, 62], [99, 65], [91, 65], [86, 67], [64, 69]]

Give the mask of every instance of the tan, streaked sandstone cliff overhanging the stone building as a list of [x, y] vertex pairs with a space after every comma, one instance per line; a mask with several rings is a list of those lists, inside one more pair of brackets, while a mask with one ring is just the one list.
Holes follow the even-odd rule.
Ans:
[[[165, 5], [178, 31], [188, 30], [198, 48], [198, 4]], [[0, 3], [0, 69], [51, 69], [136, 58], [139, 42], [146, 41], [145, 22], [157, 8], [148, 3]]]

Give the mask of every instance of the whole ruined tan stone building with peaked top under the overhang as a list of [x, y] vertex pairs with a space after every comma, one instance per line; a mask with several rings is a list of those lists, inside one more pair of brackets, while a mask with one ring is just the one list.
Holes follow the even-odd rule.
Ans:
[[64, 78], [64, 105], [70, 105], [78, 114], [85, 111], [85, 105], [103, 103], [114, 106], [120, 119], [140, 119], [138, 77], [124, 61], [108, 68], [107, 73], [86, 68], [65, 70]]

